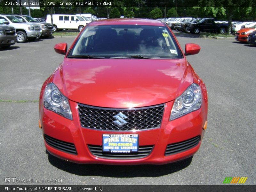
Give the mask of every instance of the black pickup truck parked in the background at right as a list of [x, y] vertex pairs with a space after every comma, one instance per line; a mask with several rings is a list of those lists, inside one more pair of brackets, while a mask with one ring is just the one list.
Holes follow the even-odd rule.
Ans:
[[228, 23], [215, 23], [213, 18], [204, 18], [198, 23], [188, 24], [190, 33], [199, 34], [200, 32], [225, 33]]

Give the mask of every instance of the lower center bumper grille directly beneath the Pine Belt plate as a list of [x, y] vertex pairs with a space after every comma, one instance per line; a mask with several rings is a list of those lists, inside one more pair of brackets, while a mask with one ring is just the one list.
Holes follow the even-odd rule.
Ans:
[[111, 154], [109, 152], [102, 152], [102, 146], [100, 145], [88, 145], [92, 155], [105, 158], [105, 159], [138, 159], [148, 156], [152, 149], [153, 145], [149, 146], [139, 146], [137, 153], [117, 153]]

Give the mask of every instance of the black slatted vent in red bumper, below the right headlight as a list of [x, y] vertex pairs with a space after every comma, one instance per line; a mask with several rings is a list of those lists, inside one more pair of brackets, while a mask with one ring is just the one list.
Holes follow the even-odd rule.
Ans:
[[189, 140], [169, 144], [169, 145], [167, 145], [164, 155], [173, 155], [175, 153], [180, 153], [182, 151], [186, 151], [188, 149], [196, 147], [196, 145], [199, 143], [199, 141], [200, 141], [200, 136], [198, 135]]

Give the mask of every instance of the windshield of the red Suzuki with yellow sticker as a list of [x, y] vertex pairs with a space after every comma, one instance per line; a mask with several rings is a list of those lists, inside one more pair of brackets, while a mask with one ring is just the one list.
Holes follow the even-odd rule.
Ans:
[[182, 58], [169, 29], [147, 25], [88, 26], [78, 37], [68, 57], [98, 56]]

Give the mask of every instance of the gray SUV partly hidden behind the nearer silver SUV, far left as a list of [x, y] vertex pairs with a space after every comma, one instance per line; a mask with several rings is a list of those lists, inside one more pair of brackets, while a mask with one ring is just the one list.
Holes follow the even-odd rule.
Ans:
[[14, 16], [17, 17], [18, 19], [21, 19], [22, 22], [24, 22], [24, 23], [39, 24], [43, 31], [42, 36], [44, 36], [44, 37], [51, 36], [54, 32], [51, 23], [36, 21], [35, 19], [33, 19], [32, 17], [30, 17], [28, 15], [14, 15]]

